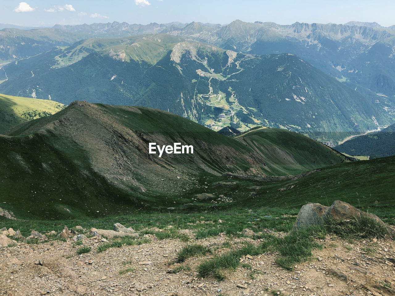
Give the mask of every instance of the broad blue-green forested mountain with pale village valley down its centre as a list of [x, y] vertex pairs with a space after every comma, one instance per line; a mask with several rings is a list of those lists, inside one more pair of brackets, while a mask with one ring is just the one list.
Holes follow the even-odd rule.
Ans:
[[239, 54], [165, 34], [87, 39], [4, 71], [2, 92], [141, 105], [214, 130], [263, 125], [333, 141], [394, 120], [384, 109], [389, 101], [360, 94], [295, 55]]

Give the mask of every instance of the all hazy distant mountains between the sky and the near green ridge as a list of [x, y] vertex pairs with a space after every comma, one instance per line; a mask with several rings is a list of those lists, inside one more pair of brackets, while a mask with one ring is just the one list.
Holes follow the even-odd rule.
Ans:
[[0, 69], [6, 94], [142, 105], [218, 130], [263, 125], [333, 142], [394, 122], [395, 31], [376, 23], [113, 22], [0, 36], [1, 59], [15, 61]]

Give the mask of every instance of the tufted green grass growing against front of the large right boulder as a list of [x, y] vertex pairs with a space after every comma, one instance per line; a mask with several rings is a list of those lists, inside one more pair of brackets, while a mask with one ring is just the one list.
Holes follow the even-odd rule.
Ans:
[[327, 218], [324, 225], [329, 232], [342, 238], [384, 238], [388, 234], [386, 227], [367, 217], [355, 217], [343, 221]]

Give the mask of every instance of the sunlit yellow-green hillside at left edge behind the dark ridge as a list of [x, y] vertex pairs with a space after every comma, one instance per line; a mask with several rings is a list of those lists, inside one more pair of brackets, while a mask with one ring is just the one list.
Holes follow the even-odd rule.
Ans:
[[51, 100], [0, 94], [0, 133], [17, 124], [54, 114], [64, 107], [66, 106]]

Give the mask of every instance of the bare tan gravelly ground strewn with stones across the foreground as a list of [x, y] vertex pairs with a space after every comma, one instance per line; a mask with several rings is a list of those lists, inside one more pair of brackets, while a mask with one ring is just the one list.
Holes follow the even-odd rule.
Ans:
[[[184, 270], [171, 273], [180, 266], [174, 262], [185, 242], [145, 234], [150, 240], [147, 244], [112, 247], [100, 253], [97, 247], [107, 240], [98, 232], [86, 231], [86, 236], [93, 236], [81, 236], [82, 245], [77, 245], [74, 236], [0, 247], [0, 294], [395, 295], [391, 288], [395, 285], [393, 240], [351, 241], [327, 235], [317, 240], [323, 248], [292, 271], [277, 266], [276, 253], [247, 255], [240, 259], [242, 264], [235, 271], [226, 271], [224, 281], [217, 281], [213, 277], [201, 278], [196, 272], [204, 258], [226, 253], [245, 242], [259, 244], [260, 240], [225, 234], [202, 240], [191, 238], [189, 244], [205, 245], [213, 254], [189, 258], [182, 264]], [[63, 235], [70, 234], [64, 231]], [[92, 251], [78, 255], [76, 251], [82, 246]]]

